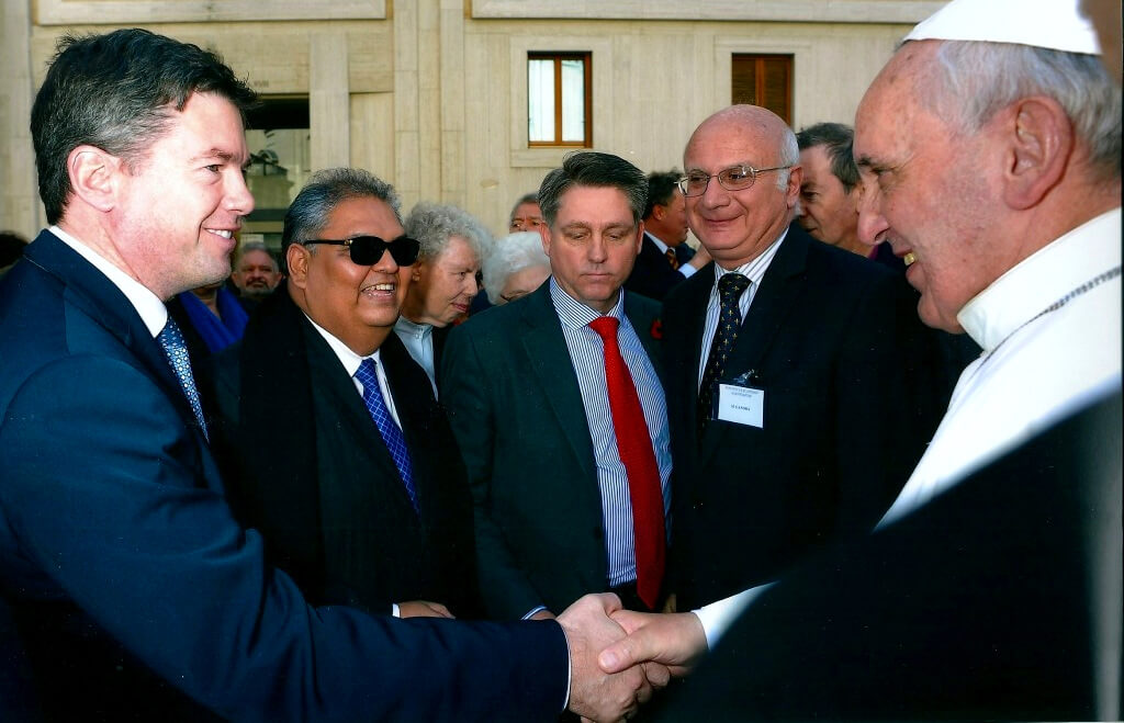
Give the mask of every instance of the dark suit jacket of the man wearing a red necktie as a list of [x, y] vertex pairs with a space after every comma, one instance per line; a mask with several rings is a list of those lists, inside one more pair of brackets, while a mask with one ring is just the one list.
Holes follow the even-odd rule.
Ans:
[[[656, 311], [625, 298], [654, 365]], [[518, 617], [540, 604], [556, 614], [607, 589], [593, 446], [549, 283], [453, 329], [441, 400], [469, 472], [489, 614]]]

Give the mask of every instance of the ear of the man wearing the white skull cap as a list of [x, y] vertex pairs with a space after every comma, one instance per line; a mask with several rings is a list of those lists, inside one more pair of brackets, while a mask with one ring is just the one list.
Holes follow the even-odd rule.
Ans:
[[1061, 180], [1073, 154], [1073, 126], [1052, 98], [1026, 98], [1004, 113], [1008, 152], [1003, 199], [1013, 209], [1028, 209]]

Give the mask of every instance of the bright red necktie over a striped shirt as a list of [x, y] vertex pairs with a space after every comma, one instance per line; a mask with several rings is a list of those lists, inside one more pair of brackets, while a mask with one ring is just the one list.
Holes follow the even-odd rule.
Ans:
[[605, 384], [617, 438], [617, 454], [628, 475], [633, 509], [633, 544], [636, 550], [636, 593], [651, 607], [660, 598], [663, 580], [664, 530], [660, 467], [652, 449], [652, 434], [644, 421], [636, 384], [617, 346], [617, 319], [599, 317], [589, 323], [605, 342]]

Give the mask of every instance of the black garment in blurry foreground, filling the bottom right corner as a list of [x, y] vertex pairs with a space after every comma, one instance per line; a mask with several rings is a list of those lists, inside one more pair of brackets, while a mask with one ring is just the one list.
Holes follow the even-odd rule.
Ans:
[[1117, 390], [782, 578], [661, 720], [1120, 720], [1121, 504]]

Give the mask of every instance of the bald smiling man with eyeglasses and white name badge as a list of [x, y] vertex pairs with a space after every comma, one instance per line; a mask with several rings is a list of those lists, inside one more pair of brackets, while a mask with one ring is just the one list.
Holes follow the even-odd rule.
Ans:
[[715, 259], [663, 310], [672, 589], [691, 610], [869, 531], [951, 387], [932, 378], [933, 336], [900, 275], [792, 223], [801, 168], [780, 118], [718, 111], [683, 168], [688, 222]]

